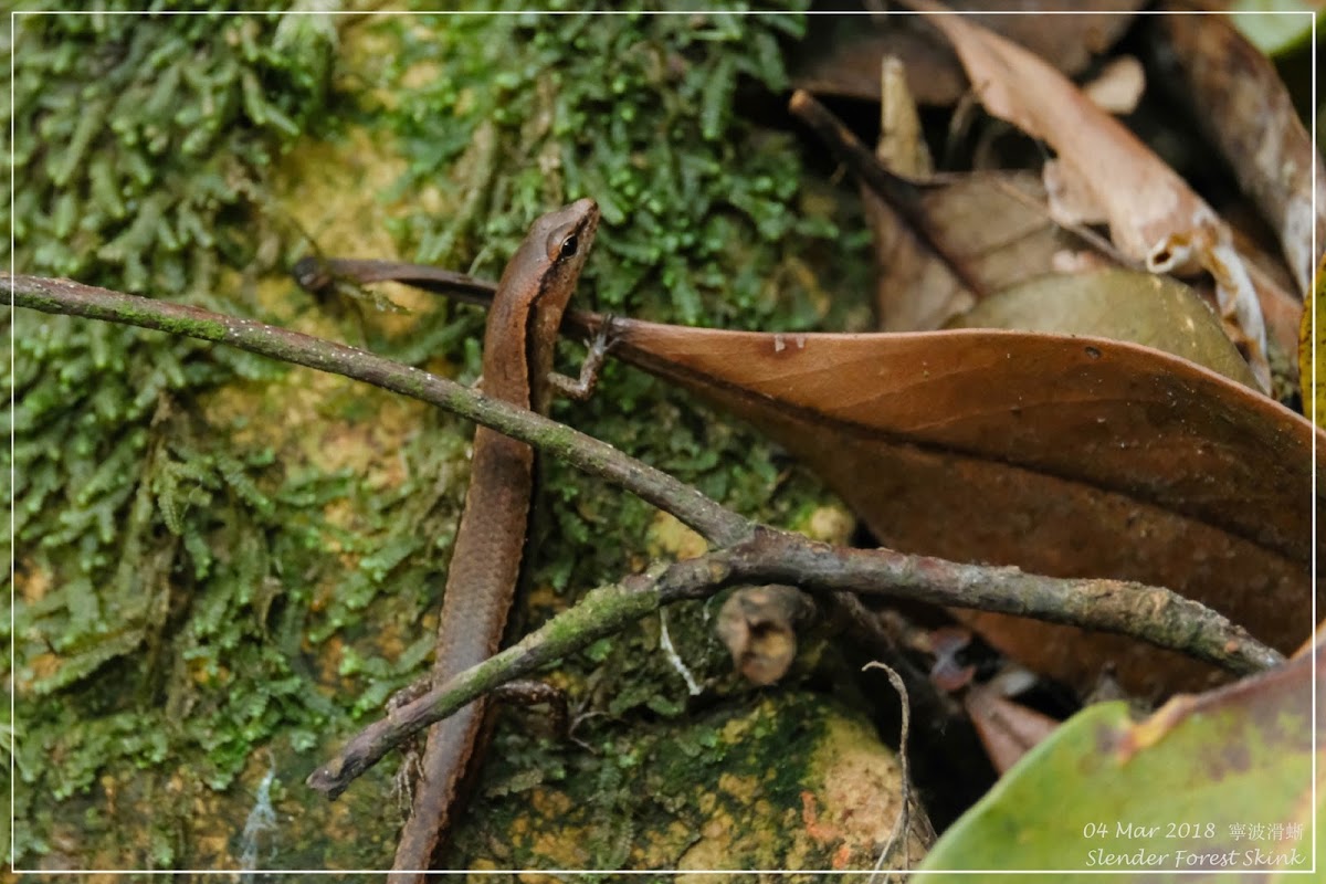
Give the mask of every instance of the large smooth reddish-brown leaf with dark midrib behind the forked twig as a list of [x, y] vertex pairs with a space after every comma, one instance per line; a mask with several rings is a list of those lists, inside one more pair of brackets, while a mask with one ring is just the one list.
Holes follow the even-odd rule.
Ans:
[[[1163, 584], [1292, 651], [1311, 634], [1313, 429], [1138, 345], [1020, 331], [765, 334], [621, 323], [618, 353], [754, 423], [890, 547]], [[969, 622], [1087, 689], [1215, 673], [1116, 637]]]

